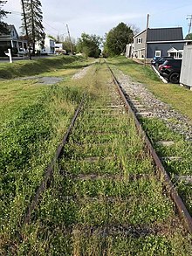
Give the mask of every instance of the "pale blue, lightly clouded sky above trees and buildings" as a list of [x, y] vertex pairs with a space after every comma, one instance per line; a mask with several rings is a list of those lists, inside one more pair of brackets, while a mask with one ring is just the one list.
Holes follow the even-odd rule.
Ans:
[[[79, 38], [82, 32], [104, 36], [106, 32], [120, 22], [145, 30], [147, 14], [149, 28], [182, 26], [183, 35], [189, 31], [192, 15], [191, 0], [41, 0], [43, 24], [48, 35], [67, 37], [68, 24], [72, 38]], [[20, 34], [20, 0], [8, 0], [4, 10], [12, 13], [4, 18], [8, 24], [14, 24]], [[192, 29], [191, 29], [192, 32]]]

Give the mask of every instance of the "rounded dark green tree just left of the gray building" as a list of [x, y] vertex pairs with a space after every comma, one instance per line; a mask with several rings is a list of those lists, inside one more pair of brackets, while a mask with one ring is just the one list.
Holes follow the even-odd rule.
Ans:
[[120, 55], [126, 51], [126, 45], [133, 41], [134, 31], [124, 23], [118, 24], [106, 34], [104, 52], [107, 55]]

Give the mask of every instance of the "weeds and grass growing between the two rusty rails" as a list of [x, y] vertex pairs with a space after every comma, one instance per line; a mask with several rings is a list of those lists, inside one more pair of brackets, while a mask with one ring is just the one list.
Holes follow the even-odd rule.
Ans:
[[23, 242], [15, 238], [9, 252], [188, 255], [190, 236], [182, 232], [175, 206], [154, 175], [134, 121], [119, 109], [106, 110], [117, 105], [114, 93], [109, 99], [113, 85], [106, 66], [97, 66], [95, 73], [93, 67], [83, 83], [90, 90], [85, 112], [51, 189], [22, 230]]

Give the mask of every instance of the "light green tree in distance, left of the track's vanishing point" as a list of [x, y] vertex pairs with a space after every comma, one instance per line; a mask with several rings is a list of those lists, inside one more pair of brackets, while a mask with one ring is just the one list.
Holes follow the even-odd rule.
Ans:
[[86, 57], [99, 58], [100, 43], [101, 38], [99, 36], [82, 33], [81, 38], [78, 39], [77, 51], [82, 52]]

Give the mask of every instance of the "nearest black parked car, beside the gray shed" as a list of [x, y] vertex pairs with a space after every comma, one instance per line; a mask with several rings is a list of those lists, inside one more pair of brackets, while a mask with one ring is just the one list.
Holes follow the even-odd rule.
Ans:
[[166, 78], [173, 84], [178, 84], [182, 68], [182, 59], [167, 59], [161, 66], [159, 72], [161, 76]]

